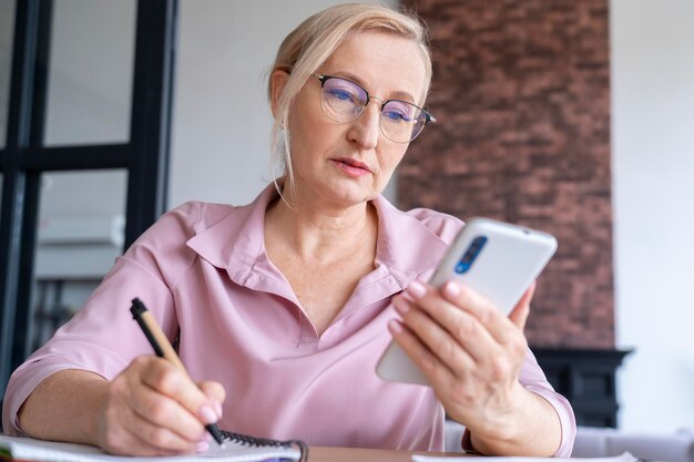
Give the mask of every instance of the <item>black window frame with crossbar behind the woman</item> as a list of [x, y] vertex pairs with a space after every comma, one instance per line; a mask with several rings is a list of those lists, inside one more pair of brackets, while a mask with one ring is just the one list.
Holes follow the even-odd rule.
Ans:
[[137, 0], [130, 141], [43, 146], [53, 0], [17, 0], [7, 141], [0, 148], [0, 397], [30, 341], [44, 172], [126, 170], [125, 248], [166, 209], [177, 0]]

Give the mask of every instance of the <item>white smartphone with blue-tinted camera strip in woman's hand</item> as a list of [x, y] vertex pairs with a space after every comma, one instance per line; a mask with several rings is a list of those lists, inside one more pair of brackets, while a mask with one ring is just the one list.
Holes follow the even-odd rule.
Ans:
[[[554, 236], [489, 218], [471, 218], [429, 280], [441, 287], [459, 279], [506, 315], [521, 299], [557, 250]], [[391, 341], [376, 366], [386, 380], [429, 384], [407, 353]]]

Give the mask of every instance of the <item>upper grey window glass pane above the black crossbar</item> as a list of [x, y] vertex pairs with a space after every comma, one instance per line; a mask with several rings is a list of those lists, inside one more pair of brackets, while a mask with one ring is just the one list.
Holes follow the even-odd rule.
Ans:
[[130, 140], [135, 0], [55, 0], [44, 145]]

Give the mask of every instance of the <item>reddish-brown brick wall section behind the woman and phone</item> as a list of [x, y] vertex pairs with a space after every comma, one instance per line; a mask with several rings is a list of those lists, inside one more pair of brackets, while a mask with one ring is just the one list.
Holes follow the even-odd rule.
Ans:
[[399, 206], [554, 234], [531, 345], [613, 348], [608, 0], [405, 6], [430, 30], [439, 122], [399, 168]]

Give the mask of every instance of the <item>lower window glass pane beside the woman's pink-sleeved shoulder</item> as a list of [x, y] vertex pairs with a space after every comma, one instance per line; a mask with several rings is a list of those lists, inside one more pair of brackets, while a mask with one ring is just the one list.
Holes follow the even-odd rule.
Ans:
[[43, 345], [79, 310], [122, 253], [125, 171], [45, 173], [29, 341]]

